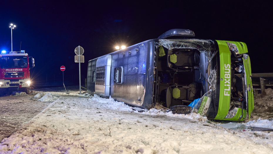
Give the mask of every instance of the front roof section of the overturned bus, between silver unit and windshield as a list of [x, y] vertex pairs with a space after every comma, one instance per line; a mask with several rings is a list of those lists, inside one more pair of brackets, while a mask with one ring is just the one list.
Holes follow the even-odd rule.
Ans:
[[[114, 69], [117, 67], [123, 67], [122, 84], [114, 83]], [[153, 102], [153, 83], [154, 40], [112, 54], [112, 98], [149, 109]]]

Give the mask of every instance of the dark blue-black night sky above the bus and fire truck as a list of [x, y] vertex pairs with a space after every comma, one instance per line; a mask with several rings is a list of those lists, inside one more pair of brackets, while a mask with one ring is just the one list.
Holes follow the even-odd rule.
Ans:
[[[263, 1], [265, 2], [265, 1]], [[88, 60], [158, 38], [182, 28], [196, 37], [245, 42], [252, 73], [272, 71], [272, 5], [260, 1], [1, 1], [0, 50], [26, 50], [35, 58], [32, 77], [78, 74], [74, 49], [84, 48], [82, 75]]]

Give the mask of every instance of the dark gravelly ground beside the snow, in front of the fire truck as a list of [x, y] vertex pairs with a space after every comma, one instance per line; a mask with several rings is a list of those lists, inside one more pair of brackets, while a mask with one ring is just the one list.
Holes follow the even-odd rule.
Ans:
[[[79, 86], [68, 86], [68, 91], [79, 91]], [[37, 92], [65, 92], [63, 87], [32, 89]], [[0, 141], [16, 132], [23, 124], [43, 111], [52, 102], [41, 102], [34, 95], [0, 97]]]

